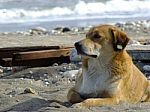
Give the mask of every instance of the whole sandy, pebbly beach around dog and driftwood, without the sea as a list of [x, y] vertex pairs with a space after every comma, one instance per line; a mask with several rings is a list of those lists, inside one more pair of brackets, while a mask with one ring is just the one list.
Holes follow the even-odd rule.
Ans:
[[[150, 22], [130, 21], [113, 25], [124, 30], [131, 38], [129, 44], [150, 44]], [[0, 47], [15, 46], [73, 46], [74, 42], [85, 38], [89, 27], [56, 27], [48, 30], [36, 27], [28, 31], [2, 32]], [[134, 40], [134, 41], [133, 41]], [[75, 84], [75, 76], [81, 68], [80, 62], [49, 67], [24, 68], [13, 71], [12, 67], [1, 67], [0, 111], [94, 111], [94, 112], [148, 112], [150, 103], [120, 104], [116, 106], [91, 107], [78, 109], [67, 102], [67, 92]], [[69, 72], [70, 71], [70, 72]], [[149, 71], [145, 71], [149, 73]], [[149, 78], [149, 75], [147, 75]]]

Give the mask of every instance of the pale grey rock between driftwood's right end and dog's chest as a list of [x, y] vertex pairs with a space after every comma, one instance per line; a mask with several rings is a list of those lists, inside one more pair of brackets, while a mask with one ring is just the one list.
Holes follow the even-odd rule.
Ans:
[[79, 61], [81, 61], [81, 55], [78, 55], [76, 49], [72, 49], [72, 51], [70, 53], [70, 60], [72, 62], [79, 62]]

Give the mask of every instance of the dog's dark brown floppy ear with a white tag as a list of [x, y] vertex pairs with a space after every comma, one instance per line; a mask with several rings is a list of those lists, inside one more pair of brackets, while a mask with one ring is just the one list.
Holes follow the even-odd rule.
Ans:
[[129, 38], [127, 37], [127, 35], [116, 28], [110, 28], [110, 33], [113, 39], [114, 50], [123, 50], [129, 42]]

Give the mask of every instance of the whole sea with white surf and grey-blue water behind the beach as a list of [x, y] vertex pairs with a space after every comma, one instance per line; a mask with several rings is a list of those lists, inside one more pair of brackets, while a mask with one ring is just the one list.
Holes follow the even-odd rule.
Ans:
[[150, 0], [0, 0], [0, 32], [150, 20]]

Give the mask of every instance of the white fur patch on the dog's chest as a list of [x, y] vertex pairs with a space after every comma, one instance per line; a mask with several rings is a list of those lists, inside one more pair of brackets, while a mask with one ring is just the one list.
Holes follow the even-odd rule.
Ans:
[[97, 97], [103, 91], [109, 91], [111, 86], [110, 76], [111, 70], [104, 66], [99, 61], [92, 61], [89, 64], [88, 70], [83, 70], [83, 81], [79, 88], [81, 95], [88, 95], [89, 97]]

